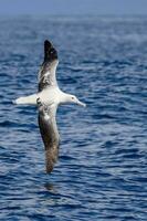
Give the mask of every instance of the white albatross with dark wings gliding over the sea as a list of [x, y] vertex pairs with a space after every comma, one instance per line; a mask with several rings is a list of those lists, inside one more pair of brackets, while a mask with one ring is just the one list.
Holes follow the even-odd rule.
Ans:
[[45, 168], [50, 173], [59, 156], [60, 135], [55, 120], [57, 106], [74, 103], [86, 106], [75, 95], [66, 94], [60, 90], [56, 82], [57, 52], [53, 44], [44, 41], [44, 61], [39, 71], [39, 90], [36, 94], [19, 97], [13, 103], [21, 105], [35, 105], [39, 110], [39, 127], [45, 149]]

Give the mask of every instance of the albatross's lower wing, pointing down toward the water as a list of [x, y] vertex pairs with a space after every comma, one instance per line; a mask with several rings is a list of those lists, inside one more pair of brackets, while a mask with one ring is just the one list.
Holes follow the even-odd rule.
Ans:
[[60, 145], [60, 135], [55, 120], [56, 106], [46, 107], [41, 103], [40, 98], [36, 102], [40, 133], [45, 147], [46, 172], [50, 173], [57, 160]]

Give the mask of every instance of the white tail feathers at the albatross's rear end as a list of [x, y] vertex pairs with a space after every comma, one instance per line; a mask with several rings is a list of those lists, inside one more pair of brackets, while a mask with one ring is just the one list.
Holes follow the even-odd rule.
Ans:
[[31, 105], [36, 105], [36, 94], [25, 96], [25, 97], [19, 97], [18, 99], [14, 99], [12, 103], [13, 104], [31, 104]]

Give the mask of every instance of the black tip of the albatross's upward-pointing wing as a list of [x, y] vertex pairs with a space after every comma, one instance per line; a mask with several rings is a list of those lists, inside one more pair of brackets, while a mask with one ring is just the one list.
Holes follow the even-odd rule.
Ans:
[[52, 62], [53, 60], [57, 59], [57, 52], [54, 49], [53, 44], [45, 40], [44, 41], [44, 62], [49, 61]]

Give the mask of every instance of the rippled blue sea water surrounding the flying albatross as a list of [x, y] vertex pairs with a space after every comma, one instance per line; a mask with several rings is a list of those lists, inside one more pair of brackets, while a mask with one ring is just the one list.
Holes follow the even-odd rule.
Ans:
[[[0, 220], [147, 220], [147, 18], [0, 18]], [[44, 171], [36, 92], [43, 41], [57, 81], [87, 104], [61, 106], [59, 162]]]

